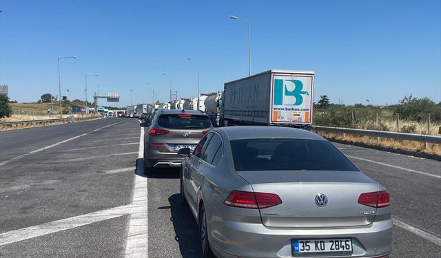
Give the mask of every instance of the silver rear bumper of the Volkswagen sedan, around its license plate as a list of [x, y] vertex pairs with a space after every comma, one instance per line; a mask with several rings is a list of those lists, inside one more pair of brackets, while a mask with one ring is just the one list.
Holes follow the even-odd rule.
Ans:
[[[351, 237], [353, 254], [332, 257], [389, 257], [392, 251], [391, 220], [367, 227], [337, 229], [267, 228], [262, 224], [217, 221], [208, 225], [210, 246], [219, 258], [293, 257], [291, 239]], [[329, 257], [308, 256], [309, 258]]]

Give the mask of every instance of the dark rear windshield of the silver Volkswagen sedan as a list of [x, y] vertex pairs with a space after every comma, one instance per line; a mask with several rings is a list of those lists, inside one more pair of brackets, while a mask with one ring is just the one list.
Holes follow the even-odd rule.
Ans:
[[358, 171], [334, 145], [323, 140], [232, 140], [236, 171]]

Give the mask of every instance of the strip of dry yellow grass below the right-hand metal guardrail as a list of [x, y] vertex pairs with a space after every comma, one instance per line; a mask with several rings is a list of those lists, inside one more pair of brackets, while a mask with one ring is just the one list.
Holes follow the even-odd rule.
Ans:
[[343, 138], [342, 133], [329, 133], [324, 131], [319, 131], [318, 134], [329, 140], [344, 140], [346, 142], [356, 142], [367, 144], [370, 146], [379, 146], [397, 150], [427, 153], [432, 155], [439, 155], [441, 157], [441, 145], [435, 143], [429, 143], [427, 149], [424, 149], [424, 142], [416, 142], [411, 140], [381, 138], [380, 143], [377, 143], [377, 138], [375, 136], [358, 136], [346, 133], [345, 138]]

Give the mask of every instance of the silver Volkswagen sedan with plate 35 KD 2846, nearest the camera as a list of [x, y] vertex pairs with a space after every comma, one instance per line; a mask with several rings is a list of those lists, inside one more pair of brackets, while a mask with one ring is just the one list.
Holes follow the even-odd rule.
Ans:
[[204, 258], [391, 253], [389, 193], [315, 133], [221, 127], [178, 153]]

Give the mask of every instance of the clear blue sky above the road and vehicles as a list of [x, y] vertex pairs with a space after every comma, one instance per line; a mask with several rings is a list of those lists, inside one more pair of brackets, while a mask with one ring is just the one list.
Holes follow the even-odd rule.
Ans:
[[[247, 76], [247, 24], [252, 73], [316, 72], [314, 98], [345, 104], [396, 103], [404, 95], [441, 101], [441, 1], [0, 1], [0, 83], [10, 98], [37, 101], [62, 93], [119, 92], [120, 103], [196, 96]], [[150, 83], [147, 85], [147, 83]], [[101, 100], [101, 104], [105, 104]]]

